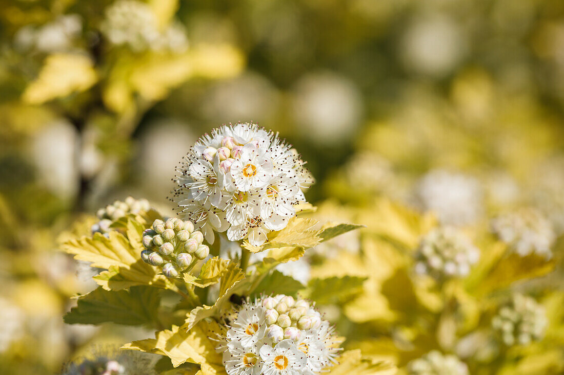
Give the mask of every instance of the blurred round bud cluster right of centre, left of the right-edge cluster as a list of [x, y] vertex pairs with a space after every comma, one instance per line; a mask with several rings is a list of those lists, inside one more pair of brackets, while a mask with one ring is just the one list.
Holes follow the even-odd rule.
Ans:
[[440, 227], [423, 236], [415, 253], [415, 271], [437, 280], [463, 277], [480, 257], [470, 239], [453, 227]]

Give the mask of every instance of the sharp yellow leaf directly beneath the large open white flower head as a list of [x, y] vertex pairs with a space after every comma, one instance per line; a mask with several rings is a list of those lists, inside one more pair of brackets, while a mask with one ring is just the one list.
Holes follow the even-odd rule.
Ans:
[[318, 222], [311, 218], [294, 216], [283, 230], [270, 234], [268, 241], [262, 246], [253, 246], [244, 241], [243, 247], [251, 252], [281, 247], [299, 247], [303, 249], [314, 247], [321, 242], [321, 238], [317, 235], [318, 230], [313, 229]]

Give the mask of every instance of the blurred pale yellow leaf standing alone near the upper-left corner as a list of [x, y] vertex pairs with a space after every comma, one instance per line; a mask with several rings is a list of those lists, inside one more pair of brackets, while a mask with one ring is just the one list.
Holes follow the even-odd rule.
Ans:
[[98, 81], [94, 64], [85, 55], [56, 53], [47, 56], [37, 79], [29, 84], [22, 99], [29, 104], [81, 92]]

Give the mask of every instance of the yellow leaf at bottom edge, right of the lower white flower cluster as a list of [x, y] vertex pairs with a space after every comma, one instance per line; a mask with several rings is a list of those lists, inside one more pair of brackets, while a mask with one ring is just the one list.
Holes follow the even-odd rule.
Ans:
[[360, 349], [343, 352], [337, 358], [337, 364], [326, 368], [331, 375], [392, 375], [397, 372], [397, 368], [384, 361], [373, 361], [362, 358]]

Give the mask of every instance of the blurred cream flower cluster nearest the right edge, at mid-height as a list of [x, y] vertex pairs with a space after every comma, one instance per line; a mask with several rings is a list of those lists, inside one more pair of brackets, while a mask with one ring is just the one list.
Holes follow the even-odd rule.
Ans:
[[520, 256], [532, 253], [550, 258], [556, 234], [552, 224], [539, 211], [522, 208], [492, 220], [492, 231]]

